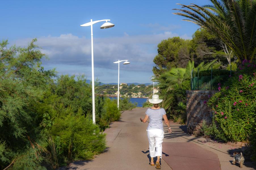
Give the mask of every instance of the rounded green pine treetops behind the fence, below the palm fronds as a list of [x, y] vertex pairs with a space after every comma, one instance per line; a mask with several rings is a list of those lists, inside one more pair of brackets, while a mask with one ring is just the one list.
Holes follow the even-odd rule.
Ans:
[[193, 34], [192, 40], [173, 37], [158, 44], [153, 73], [159, 76], [171, 68], [184, 68], [189, 61], [193, 61], [193, 65], [199, 68], [203, 61], [218, 61], [219, 66], [225, 69], [234, 60], [232, 51], [217, 36], [206, 29], [200, 29]]

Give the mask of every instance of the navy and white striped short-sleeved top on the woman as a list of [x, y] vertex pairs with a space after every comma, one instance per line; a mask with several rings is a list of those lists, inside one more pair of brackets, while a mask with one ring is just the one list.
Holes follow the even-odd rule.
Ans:
[[163, 115], [166, 112], [163, 108], [160, 109], [147, 109], [146, 115], [149, 117], [149, 124], [147, 129], [162, 129], [163, 130]]

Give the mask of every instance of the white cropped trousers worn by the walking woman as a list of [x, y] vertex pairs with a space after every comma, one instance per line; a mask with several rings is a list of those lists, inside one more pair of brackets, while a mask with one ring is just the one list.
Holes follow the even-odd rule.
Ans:
[[162, 129], [148, 129], [149, 155], [162, 158], [162, 143], [164, 131]]

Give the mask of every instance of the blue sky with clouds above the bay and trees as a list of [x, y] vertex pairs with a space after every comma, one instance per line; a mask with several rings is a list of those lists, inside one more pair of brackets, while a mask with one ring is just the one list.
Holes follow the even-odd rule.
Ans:
[[45, 69], [59, 74], [82, 75], [91, 80], [91, 28], [81, 27], [93, 20], [110, 19], [115, 27], [100, 29], [93, 25], [95, 78], [117, 82], [148, 83], [153, 75], [157, 45], [168, 37], [191, 39], [199, 27], [173, 15], [180, 4], [209, 4], [208, 0], [162, 1], [2, 1], [0, 6], [0, 40], [10, 45], [26, 46], [37, 38]]

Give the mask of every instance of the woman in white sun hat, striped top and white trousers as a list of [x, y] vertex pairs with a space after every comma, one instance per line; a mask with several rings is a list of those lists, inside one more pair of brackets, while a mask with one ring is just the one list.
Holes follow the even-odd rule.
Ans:
[[152, 99], [148, 99], [154, 106], [147, 109], [144, 119], [140, 118], [140, 121], [145, 123], [148, 118], [150, 120], [147, 128], [148, 142], [149, 142], [149, 155], [151, 157], [150, 165], [154, 166], [154, 157], [156, 160], [156, 169], [161, 169], [160, 158], [162, 158], [162, 143], [164, 137], [163, 122], [168, 126], [168, 131], [171, 133], [171, 127], [166, 116], [166, 112], [163, 108], [159, 107], [159, 103], [163, 100], [159, 99], [158, 95], [153, 95]]

